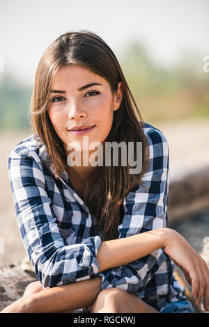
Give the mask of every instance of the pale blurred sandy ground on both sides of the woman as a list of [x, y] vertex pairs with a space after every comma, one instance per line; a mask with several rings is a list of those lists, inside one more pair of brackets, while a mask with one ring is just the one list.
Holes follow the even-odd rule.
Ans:
[[[154, 126], [164, 133], [169, 143], [170, 181], [209, 165], [209, 120], [192, 119]], [[13, 147], [27, 135], [26, 131], [0, 132], [0, 266], [20, 264], [26, 255], [17, 228], [6, 159]]]

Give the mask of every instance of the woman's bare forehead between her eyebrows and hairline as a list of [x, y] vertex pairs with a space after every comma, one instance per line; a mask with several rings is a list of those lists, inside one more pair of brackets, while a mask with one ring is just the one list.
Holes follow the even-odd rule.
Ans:
[[83, 86], [85, 83], [98, 82], [106, 86], [107, 81], [98, 74], [91, 72], [85, 67], [79, 65], [70, 65], [61, 67], [52, 79], [52, 87], [59, 86]]

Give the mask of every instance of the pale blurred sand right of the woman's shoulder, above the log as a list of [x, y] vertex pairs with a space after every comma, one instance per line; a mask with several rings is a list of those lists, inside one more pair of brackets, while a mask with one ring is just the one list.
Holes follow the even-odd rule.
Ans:
[[209, 165], [209, 119], [157, 124], [170, 150], [170, 181]]

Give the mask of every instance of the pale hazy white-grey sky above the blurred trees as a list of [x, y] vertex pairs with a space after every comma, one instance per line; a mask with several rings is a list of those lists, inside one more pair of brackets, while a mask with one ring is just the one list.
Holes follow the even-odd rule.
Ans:
[[32, 86], [38, 61], [66, 31], [100, 35], [119, 62], [131, 40], [158, 65], [171, 67], [185, 51], [209, 55], [209, 0], [0, 0], [0, 59]]

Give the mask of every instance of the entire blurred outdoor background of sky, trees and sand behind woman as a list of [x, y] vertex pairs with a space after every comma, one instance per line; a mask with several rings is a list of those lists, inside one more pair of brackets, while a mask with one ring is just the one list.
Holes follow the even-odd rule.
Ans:
[[169, 224], [201, 252], [209, 239], [209, 1], [7, 0], [0, 1], [0, 266], [26, 255], [6, 159], [32, 134], [38, 61], [59, 35], [82, 29], [111, 47], [142, 117], [164, 132]]

